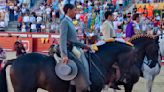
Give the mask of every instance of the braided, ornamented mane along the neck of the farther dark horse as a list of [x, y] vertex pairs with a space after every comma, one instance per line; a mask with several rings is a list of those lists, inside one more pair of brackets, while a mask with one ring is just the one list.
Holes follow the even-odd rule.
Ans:
[[132, 42], [136, 39], [140, 39], [140, 38], [149, 38], [149, 39], [155, 39], [155, 36], [153, 35], [148, 35], [148, 34], [137, 34], [137, 35], [134, 35], [132, 36], [130, 39], [129, 39], [129, 42]]

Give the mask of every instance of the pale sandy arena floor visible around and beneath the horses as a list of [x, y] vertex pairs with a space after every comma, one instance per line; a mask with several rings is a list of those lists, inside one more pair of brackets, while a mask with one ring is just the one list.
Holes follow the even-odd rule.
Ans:
[[[15, 53], [7, 52], [7, 59], [13, 59], [13, 58], [15, 58]], [[7, 69], [7, 72], [8, 71], [9, 71], [9, 67]], [[9, 92], [14, 92], [12, 89], [9, 75], [7, 77], [8, 77]], [[37, 92], [47, 92], [47, 91], [39, 89]], [[113, 91], [111, 89], [106, 89], [102, 92], [113, 92]], [[124, 92], [124, 90], [122, 88], [121, 91], [117, 91], [117, 92]], [[140, 78], [140, 81], [134, 86], [133, 92], [145, 92], [145, 81], [143, 78]], [[164, 92], [164, 66], [162, 67], [160, 74], [155, 79], [152, 92]]]

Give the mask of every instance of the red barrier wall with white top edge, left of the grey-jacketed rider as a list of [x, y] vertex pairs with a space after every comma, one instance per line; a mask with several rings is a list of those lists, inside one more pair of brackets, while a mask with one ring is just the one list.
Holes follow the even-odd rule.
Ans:
[[[58, 41], [59, 35], [48, 33], [0, 33], [0, 46], [7, 51], [12, 51], [15, 41], [22, 41], [28, 52], [47, 52], [53, 40]], [[58, 42], [56, 42], [57, 44]]]

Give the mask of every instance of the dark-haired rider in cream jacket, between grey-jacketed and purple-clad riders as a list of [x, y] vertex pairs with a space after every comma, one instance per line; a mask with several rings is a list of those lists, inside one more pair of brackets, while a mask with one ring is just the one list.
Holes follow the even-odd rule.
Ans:
[[[113, 12], [106, 11], [104, 15], [105, 15], [105, 19], [106, 20], [104, 21], [104, 23], [100, 27], [100, 30], [101, 30], [101, 32], [103, 34], [103, 39], [107, 40], [109, 38], [115, 38], [116, 37], [116, 33], [114, 31], [114, 26], [113, 26], [113, 21], [114, 21]], [[111, 78], [109, 86], [111, 88], [120, 90], [120, 88], [116, 85], [116, 83], [113, 82], [113, 81], [119, 80], [119, 78], [120, 78], [120, 69], [119, 69], [117, 64], [114, 64], [112, 66], [112, 68], [114, 68], [116, 70], [116, 73], [115, 73], [116, 76], [113, 76], [113, 77], [116, 77], [116, 78]]]

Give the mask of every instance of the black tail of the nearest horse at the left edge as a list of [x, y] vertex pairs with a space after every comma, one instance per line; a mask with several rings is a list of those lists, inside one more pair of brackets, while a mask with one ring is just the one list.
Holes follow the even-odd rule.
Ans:
[[8, 92], [7, 79], [6, 79], [6, 68], [8, 65], [12, 65], [14, 60], [9, 60], [0, 71], [0, 92]]

